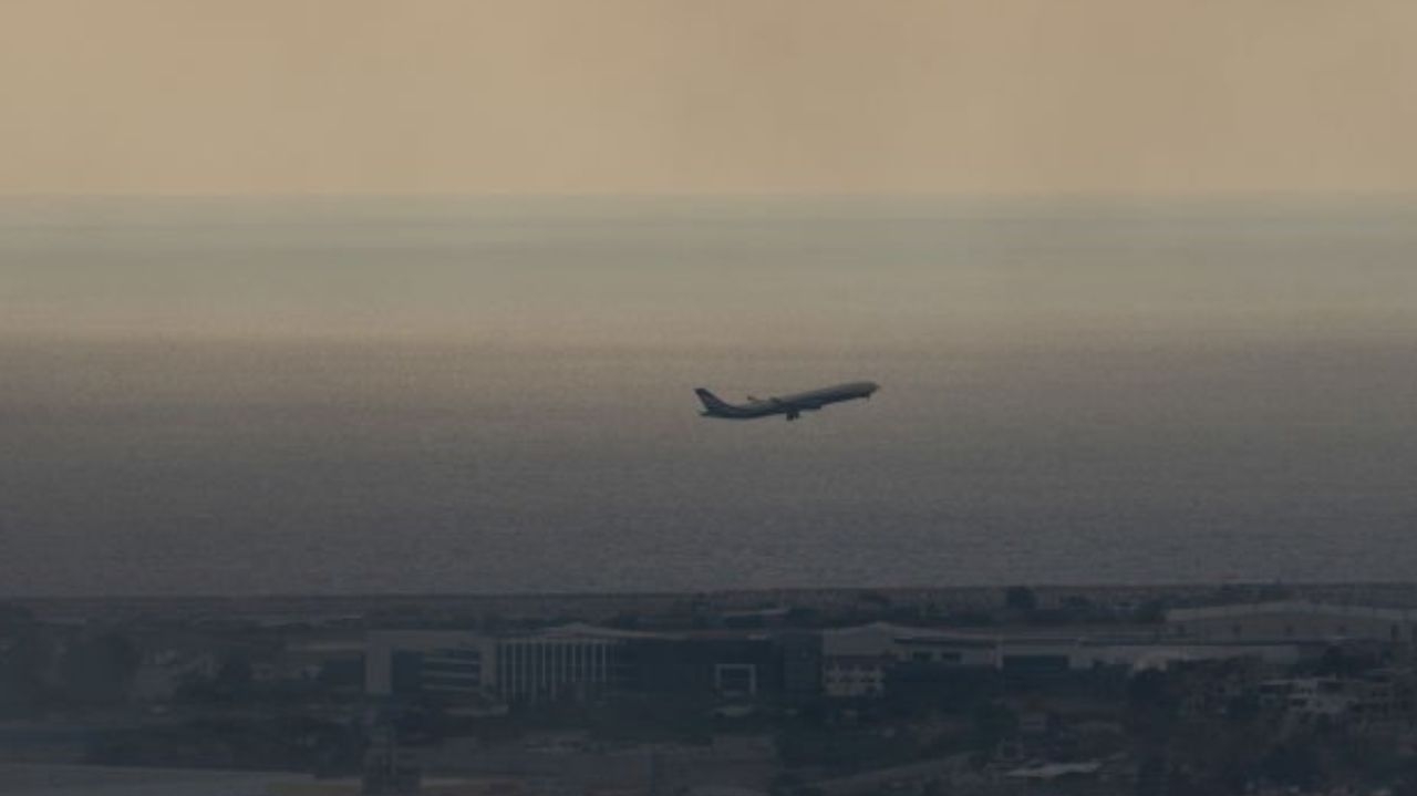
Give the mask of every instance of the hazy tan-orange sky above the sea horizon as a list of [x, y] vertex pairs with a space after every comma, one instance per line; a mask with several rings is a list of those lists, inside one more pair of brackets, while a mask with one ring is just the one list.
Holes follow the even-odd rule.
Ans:
[[4, 0], [3, 193], [1410, 191], [1410, 0]]

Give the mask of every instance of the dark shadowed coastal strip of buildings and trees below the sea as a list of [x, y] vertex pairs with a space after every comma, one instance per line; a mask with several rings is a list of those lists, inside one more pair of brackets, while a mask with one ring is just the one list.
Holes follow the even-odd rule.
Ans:
[[33, 599], [0, 792], [1410, 793], [1417, 589]]

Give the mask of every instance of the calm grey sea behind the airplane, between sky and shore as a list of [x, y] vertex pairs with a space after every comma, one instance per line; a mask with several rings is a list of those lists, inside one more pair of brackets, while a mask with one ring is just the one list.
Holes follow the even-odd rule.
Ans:
[[1414, 205], [0, 207], [4, 593], [1417, 572]]

